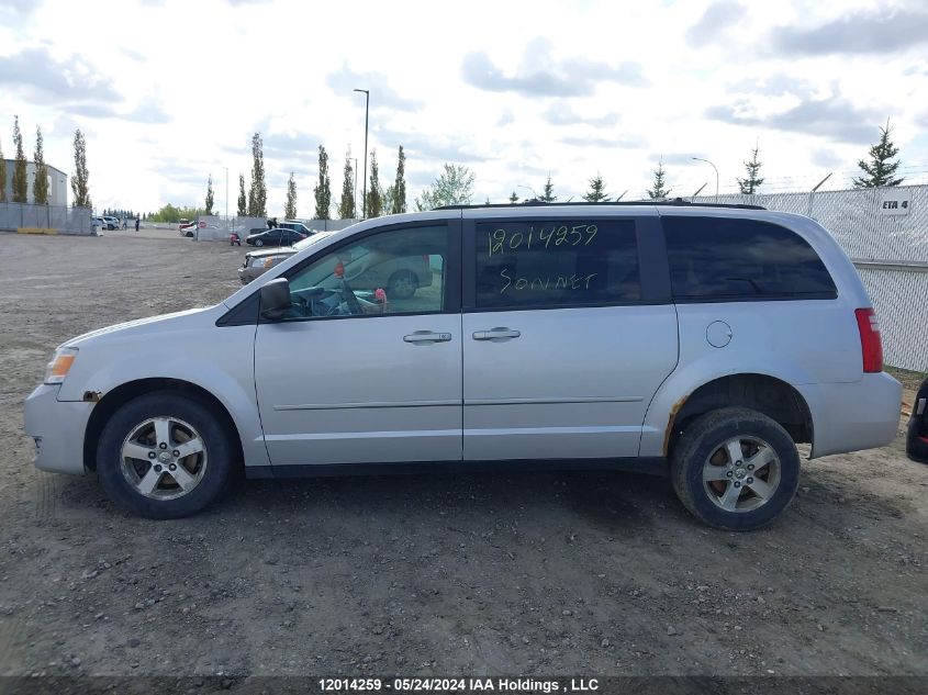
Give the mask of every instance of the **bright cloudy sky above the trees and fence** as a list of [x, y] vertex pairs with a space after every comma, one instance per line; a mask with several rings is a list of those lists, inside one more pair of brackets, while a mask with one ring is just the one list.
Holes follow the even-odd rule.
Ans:
[[[759, 147], [762, 192], [848, 188], [890, 120], [901, 173], [928, 182], [924, 1], [306, 2], [0, 0], [0, 147], [74, 168], [90, 194], [152, 212], [236, 206], [264, 141], [268, 213], [292, 171], [312, 216], [318, 146], [337, 204], [347, 153], [369, 143], [382, 186], [406, 154], [407, 202], [444, 162], [474, 202], [606, 191], [644, 197], [658, 161], [673, 195], [737, 192]], [[360, 177], [359, 177], [360, 178]], [[360, 194], [361, 184], [358, 183]]]

